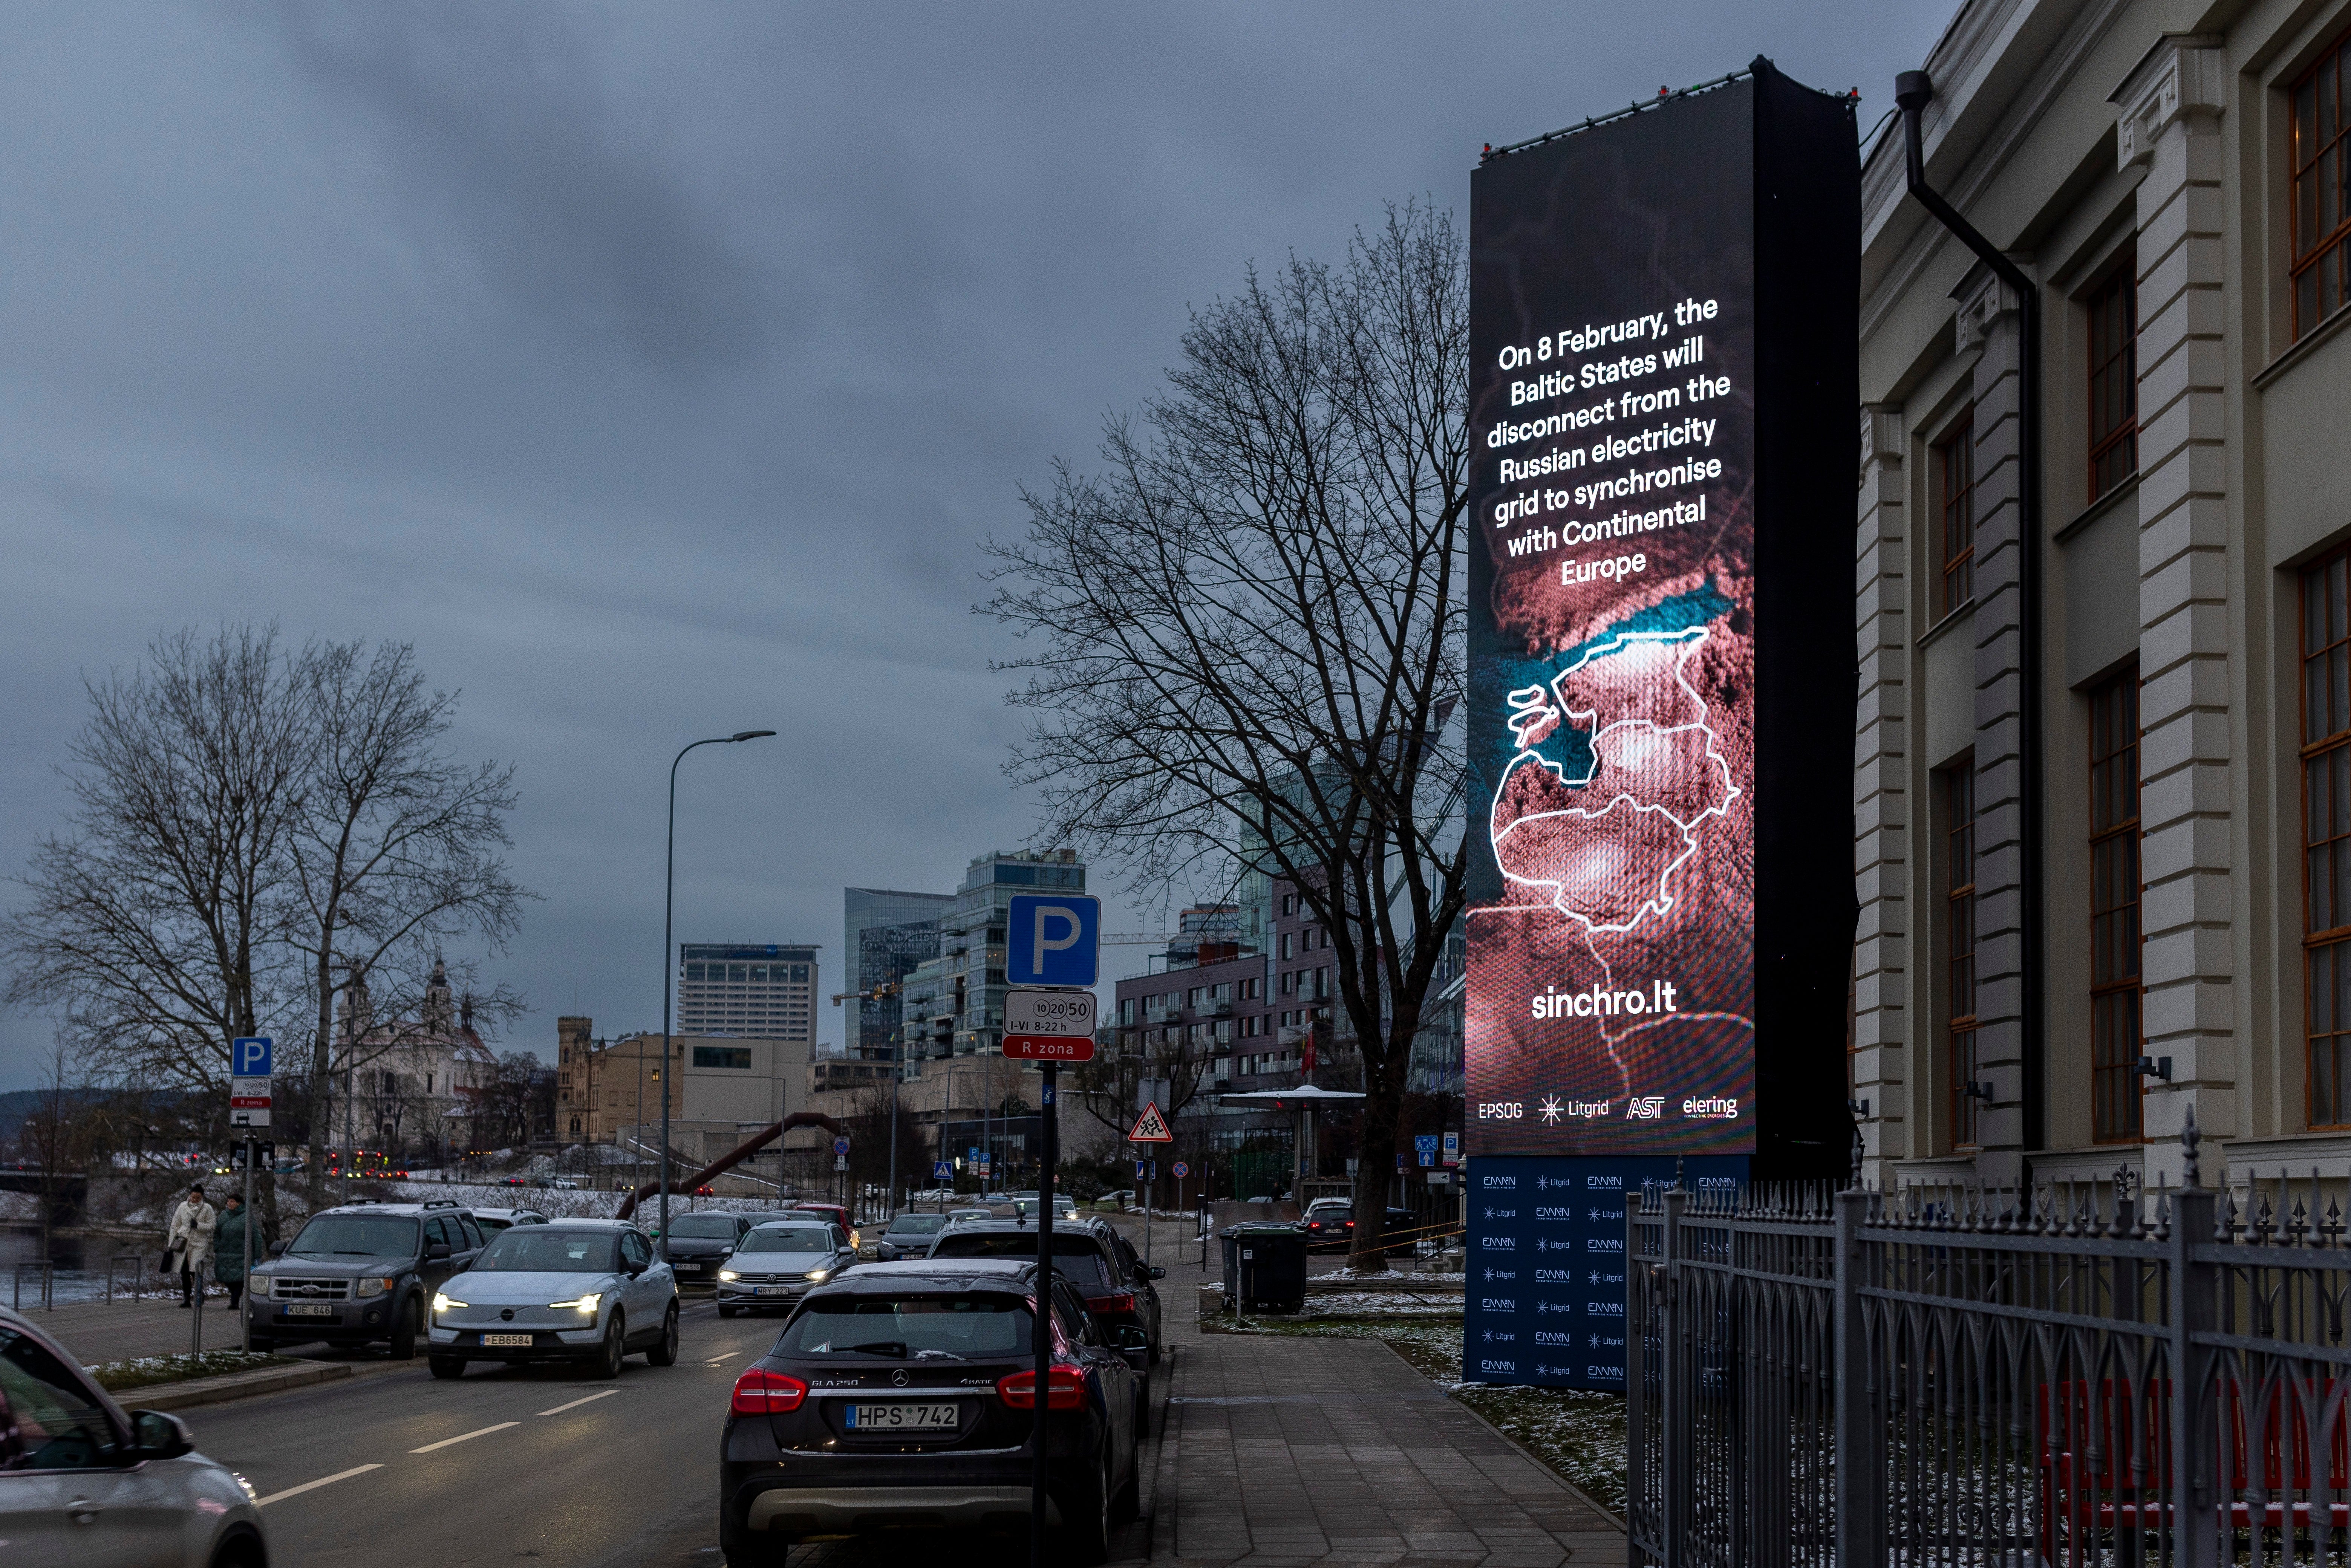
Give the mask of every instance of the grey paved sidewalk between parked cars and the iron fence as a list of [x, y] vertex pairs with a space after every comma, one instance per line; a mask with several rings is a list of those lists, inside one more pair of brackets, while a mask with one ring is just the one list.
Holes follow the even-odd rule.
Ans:
[[1199, 1244], [1168, 1267], [1152, 1561], [1208, 1568], [1615, 1568], [1625, 1535], [1378, 1340], [1199, 1333]]

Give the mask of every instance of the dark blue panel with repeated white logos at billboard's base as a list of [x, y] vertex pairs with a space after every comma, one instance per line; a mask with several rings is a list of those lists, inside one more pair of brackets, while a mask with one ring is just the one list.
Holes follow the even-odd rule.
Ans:
[[1747, 1182], [1744, 1154], [1469, 1161], [1462, 1382], [1625, 1387], [1625, 1194]]

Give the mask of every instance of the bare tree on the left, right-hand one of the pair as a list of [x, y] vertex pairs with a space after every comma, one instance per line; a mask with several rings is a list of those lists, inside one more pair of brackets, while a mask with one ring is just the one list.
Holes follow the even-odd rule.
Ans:
[[[404, 642], [367, 654], [329, 644], [303, 663], [315, 733], [306, 809], [289, 835], [296, 917], [289, 943], [310, 987], [310, 1081], [331, 1084], [339, 990], [379, 997], [388, 1018], [428, 1020], [426, 994], [442, 945], [463, 936], [498, 952], [531, 898], [498, 851], [513, 839], [515, 769], [456, 762], [442, 750], [456, 693], [430, 691]], [[348, 978], [348, 980], [346, 980]], [[468, 976], [470, 978], [470, 976]], [[484, 1025], [513, 1020], [522, 999], [503, 985], [470, 994]], [[350, 1032], [357, 1046], [360, 1032]], [[374, 1051], [346, 1053], [350, 1074], [400, 1048], [388, 1030]], [[348, 1077], [346, 1077], [348, 1081]], [[310, 1197], [327, 1180], [329, 1117], [310, 1114]]]

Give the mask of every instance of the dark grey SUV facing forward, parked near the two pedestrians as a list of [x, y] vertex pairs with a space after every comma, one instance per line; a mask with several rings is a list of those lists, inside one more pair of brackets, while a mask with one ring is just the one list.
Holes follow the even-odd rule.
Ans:
[[454, 1199], [322, 1208], [254, 1267], [245, 1295], [254, 1349], [383, 1342], [404, 1361], [433, 1291], [480, 1251], [482, 1229]]

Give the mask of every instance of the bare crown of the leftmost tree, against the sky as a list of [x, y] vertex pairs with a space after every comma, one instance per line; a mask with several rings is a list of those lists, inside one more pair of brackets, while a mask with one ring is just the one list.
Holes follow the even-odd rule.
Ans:
[[228, 1041], [280, 1032], [289, 844], [315, 738], [277, 628], [181, 630], [85, 682], [68, 830], [33, 846], [0, 922], [5, 1001], [56, 1013], [87, 1077], [226, 1088]]

